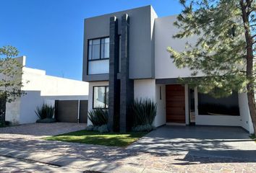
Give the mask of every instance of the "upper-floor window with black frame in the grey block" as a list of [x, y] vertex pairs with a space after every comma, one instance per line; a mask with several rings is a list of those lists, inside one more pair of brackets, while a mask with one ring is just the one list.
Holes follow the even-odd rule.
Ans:
[[89, 40], [88, 74], [108, 74], [109, 37]]

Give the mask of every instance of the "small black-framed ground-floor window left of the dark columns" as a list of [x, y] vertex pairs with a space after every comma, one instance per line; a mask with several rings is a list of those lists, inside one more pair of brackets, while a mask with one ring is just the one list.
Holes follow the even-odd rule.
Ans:
[[93, 109], [108, 109], [108, 86], [93, 86]]

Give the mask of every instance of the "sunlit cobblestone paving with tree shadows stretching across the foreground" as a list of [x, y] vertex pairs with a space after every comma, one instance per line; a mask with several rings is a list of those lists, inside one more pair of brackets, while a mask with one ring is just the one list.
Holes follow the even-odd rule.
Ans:
[[[8, 133], [3, 133], [1, 129], [0, 133], [2, 133], [0, 136], [1, 156], [8, 155], [43, 161], [62, 167], [88, 170], [88, 167], [100, 167], [101, 164], [104, 164], [106, 167], [101, 170], [108, 170], [108, 172], [122, 165], [166, 172], [256, 172], [256, 161], [246, 158], [231, 159], [192, 156], [183, 153], [153, 153], [140, 150], [140, 148], [44, 141], [38, 136], [33, 138], [31, 135], [24, 134], [10, 136]], [[1, 164], [4, 162], [1, 161]]]

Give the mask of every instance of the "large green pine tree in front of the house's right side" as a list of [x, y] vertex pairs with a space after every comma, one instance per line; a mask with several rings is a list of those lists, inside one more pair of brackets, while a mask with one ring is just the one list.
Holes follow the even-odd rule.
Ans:
[[249, 112], [256, 134], [255, 106], [255, 0], [180, 0], [184, 7], [174, 25], [175, 38], [197, 37], [182, 52], [168, 48], [179, 68], [200, 72], [187, 79], [200, 92], [215, 97], [247, 92]]

